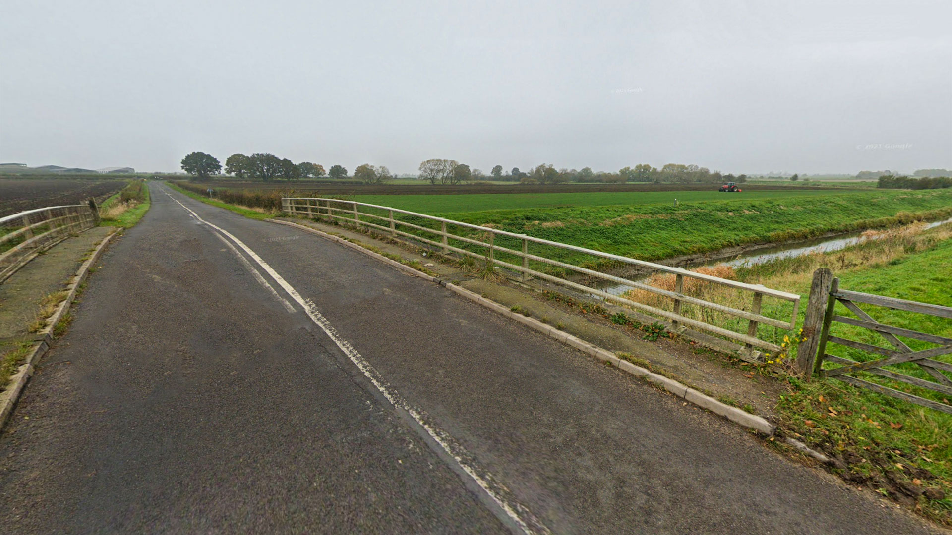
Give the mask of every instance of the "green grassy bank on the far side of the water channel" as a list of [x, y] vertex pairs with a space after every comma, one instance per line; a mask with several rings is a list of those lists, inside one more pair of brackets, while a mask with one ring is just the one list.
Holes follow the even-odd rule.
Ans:
[[[826, 194], [805, 196], [790, 196], [785, 191], [764, 193], [783, 193], [784, 196], [762, 199], [730, 196], [722, 201], [683, 203], [679, 207], [668, 204], [583, 205], [435, 213], [466, 223], [492, 225], [644, 260], [704, 253], [749, 243], [807, 239], [831, 231], [892, 227], [915, 219], [908, 215], [897, 217], [900, 212], [922, 214], [931, 211], [927, 214], [930, 219], [952, 215], [950, 190], [823, 192]], [[621, 196], [619, 193], [608, 195]], [[712, 195], [724, 199], [730, 194]], [[430, 199], [433, 203], [441, 203], [441, 198], [448, 196], [432, 195]], [[407, 196], [394, 195], [387, 201], [399, 204], [402, 197]], [[585, 199], [580, 202], [585, 202]], [[475, 208], [475, 205], [474, 202], [470, 206]], [[568, 260], [567, 257], [560, 259]]]

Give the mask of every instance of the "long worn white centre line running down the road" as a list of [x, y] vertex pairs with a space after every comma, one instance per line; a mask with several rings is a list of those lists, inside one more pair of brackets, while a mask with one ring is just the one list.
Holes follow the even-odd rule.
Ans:
[[[357, 351], [357, 349], [351, 346], [350, 343], [347, 342], [347, 340], [345, 340], [337, 332], [336, 328], [330, 325], [330, 322], [327, 321], [327, 318], [324, 317], [321, 311], [317, 309], [317, 306], [314, 305], [314, 303], [310, 299], [303, 298], [301, 294], [298, 293], [296, 289], [294, 289], [294, 287], [291, 287], [291, 285], [288, 284], [288, 281], [286, 281], [284, 277], [279, 275], [277, 271], [271, 268], [267, 262], [265, 262], [260, 256], [258, 256], [257, 253], [251, 250], [251, 248], [248, 248], [248, 246], [246, 246], [244, 242], [236, 238], [233, 234], [228, 232], [228, 230], [225, 230], [224, 228], [220, 228], [202, 219], [201, 216], [199, 216], [197, 213], [192, 211], [187, 206], [183, 205], [181, 202], [179, 202], [178, 199], [172, 197], [168, 192], [166, 192], [166, 195], [169, 195], [169, 198], [175, 201], [176, 203], [178, 203], [179, 206], [188, 210], [188, 213], [190, 213], [192, 217], [208, 225], [208, 227], [214, 228], [218, 230], [219, 232], [221, 232], [222, 234], [225, 234], [226, 236], [228, 236], [228, 238], [234, 241], [234, 243], [237, 244], [238, 247], [242, 248], [246, 253], [248, 253], [248, 256], [250, 256], [256, 263], [258, 263], [258, 265], [261, 266], [261, 268], [267, 271], [268, 275], [270, 275], [271, 278], [273, 278], [274, 281], [277, 282], [280, 287], [283, 287], [285, 291], [288, 292], [288, 295], [290, 295], [294, 301], [296, 301], [299, 305], [301, 305], [301, 307], [304, 307], [304, 310], [305, 312], [307, 312], [307, 315], [310, 317], [311, 321], [313, 321], [318, 327], [321, 327], [321, 329], [324, 330], [327, 336], [331, 340], [334, 341], [334, 344], [336, 344], [337, 347], [340, 347], [341, 351], [344, 351], [344, 354], [347, 355], [347, 358], [350, 359], [350, 362], [352, 362], [354, 366], [356, 366], [358, 369], [360, 369], [364, 373], [364, 376], [367, 377], [370, 383], [372, 383], [373, 386], [375, 386], [377, 390], [381, 394], [383, 394], [385, 398], [387, 398], [387, 401], [390, 402], [390, 405], [407, 411], [407, 414], [409, 414], [410, 417], [413, 418], [413, 421], [415, 421], [419, 426], [423, 427], [426, 430], [426, 433], [430, 436], [430, 438], [432, 438], [437, 444], [443, 447], [444, 451], [446, 451], [446, 454], [452, 457], [453, 460], [456, 462], [456, 464], [460, 466], [460, 468], [462, 468], [463, 471], [465, 471], [466, 474], [469, 475], [470, 478], [472, 478], [472, 480], [476, 483], [476, 485], [479, 485], [486, 492], [486, 495], [488, 495], [489, 498], [491, 498], [492, 501], [496, 503], [496, 505], [499, 505], [503, 509], [503, 511], [506, 512], [506, 516], [508, 516], [508, 518], [513, 523], [518, 525], [520, 529], [522, 529], [523, 532], [525, 533], [534, 533], [534, 531], [531, 528], [529, 528], [528, 524], [526, 524], [526, 521], [524, 521], [522, 517], [520, 517], [520, 515], [516, 513], [515, 508], [512, 505], [509, 505], [506, 502], [505, 498], [503, 498], [498, 493], [496, 493], [490, 487], [486, 479], [481, 477], [479, 474], [477, 474], [476, 470], [473, 469], [472, 466], [469, 466], [468, 464], [466, 464], [466, 461], [463, 460], [462, 456], [457, 453], [457, 451], [463, 450], [462, 446], [457, 445], [455, 441], [443, 430], [438, 429], [435, 426], [431, 426], [427, 424], [419, 412], [417, 412], [412, 406], [409, 406], [409, 404], [407, 404], [407, 402], [404, 401], [403, 398], [397, 392], [392, 391], [389, 387], [387, 387], [387, 385], [385, 385], [384, 383], [383, 378], [380, 376], [377, 370], [374, 367], [372, 367], [370, 363], [367, 362], [367, 360]], [[450, 443], [452, 443], [452, 446], [450, 446]], [[526, 509], [525, 506], [523, 505], [517, 505], [517, 506], [526, 515], [531, 517], [534, 525], [542, 526], [544, 532], [547, 532], [547, 530], [545, 529], [545, 525], [542, 524], [542, 522], [540, 522], [534, 516], [532, 516], [532, 513], [530, 513]]]

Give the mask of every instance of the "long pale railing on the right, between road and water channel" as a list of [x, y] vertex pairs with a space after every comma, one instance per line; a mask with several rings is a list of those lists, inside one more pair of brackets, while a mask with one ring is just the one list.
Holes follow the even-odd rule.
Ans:
[[[441, 248], [444, 253], [449, 251], [454, 251], [460, 254], [476, 257], [476, 258], [485, 258], [490, 265], [499, 266], [513, 271], [522, 273], [523, 279], [525, 280], [528, 276], [537, 277], [546, 281], [550, 281], [565, 287], [572, 287], [585, 293], [599, 296], [607, 301], [612, 301], [615, 303], [620, 303], [627, 307], [636, 308], [653, 314], [656, 316], [661, 316], [670, 320], [675, 326], [684, 325], [687, 327], [695, 327], [702, 329], [704, 331], [714, 333], [717, 335], [724, 336], [725, 338], [742, 342], [746, 347], [760, 347], [766, 349], [767, 351], [780, 352], [782, 347], [777, 344], [765, 341], [757, 337], [757, 327], [758, 325], [773, 326], [781, 328], [784, 330], [792, 331], [796, 328], [797, 322], [797, 311], [800, 306], [800, 295], [795, 293], [789, 293], [786, 291], [771, 289], [764, 287], [762, 285], [750, 285], [738, 281], [731, 281], [728, 279], [723, 279], [720, 277], [715, 277], [712, 275], [707, 275], [704, 273], [698, 273], [696, 271], [690, 271], [684, 268], [672, 268], [670, 266], [664, 266], [661, 264], [655, 264], [652, 262], [646, 262], [644, 260], [638, 260], [635, 258], [629, 258], [626, 256], [621, 256], [617, 254], [611, 254], [599, 250], [594, 250], [590, 248], [583, 248], [579, 246], [573, 246], [569, 244], [563, 244], [559, 242], [553, 242], [550, 240], [545, 240], [543, 238], [537, 238], [534, 236], [528, 236], [526, 234], [518, 234], [515, 232], [508, 232], [506, 230], [499, 230], [496, 228], [482, 227], [479, 225], [472, 225], [469, 223], [463, 223], [461, 221], [454, 221], [451, 219], [446, 219], [442, 217], [436, 217], [432, 215], [426, 215], [423, 213], [413, 212], [409, 210], [404, 210], [400, 208], [391, 208], [380, 205], [371, 205], [367, 203], [359, 203], [355, 201], [345, 201], [340, 199], [327, 199], [327, 198], [307, 198], [307, 197], [285, 197], [282, 199], [282, 207], [284, 211], [298, 215], [305, 216], [308, 218], [330, 218], [331, 220], [348, 223], [355, 225], [358, 228], [373, 228], [376, 230], [383, 231], [388, 233], [391, 236], [404, 236], [411, 240], [418, 242], [426, 243], [430, 246], [435, 246]], [[364, 208], [362, 210], [362, 208]], [[366, 208], [372, 208], [376, 210], [381, 210], [383, 213], [370, 213]], [[386, 215], [384, 215], [386, 213]], [[427, 221], [438, 223], [440, 228], [426, 228], [421, 225], [415, 225], [408, 221], [403, 221], [399, 218], [394, 218], [394, 214], [403, 214], [407, 216], [412, 216], [414, 218], [422, 218]], [[362, 219], [363, 218], [363, 219]], [[368, 221], [368, 219], [376, 220], [377, 223]], [[379, 223], [379, 224], [378, 224]], [[455, 226], [459, 228], [468, 228], [471, 230], [478, 230], [480, 232], [486, 233], [486, 241], [474, 239], [470, 236], [461, 236], [457, 234], [452, 234], [446, 230], [446, 226]], [[417, 231], [428, 232], [435, 234], [435, 237], [439, 239], [426, 238], [419, 233], [407, 232], [408, 229], [414, 229]], [[515, 248], [506, 248], [500, 246], [497, 243], [494, 243], [494, 237], [506, 237], [511, 240], [517, 240], [522, 243], [522, 250], [517, 250]], [[469, 244], [472, 246], [477, 246], [483, 248], [484, 253], [474, 252], [466, 248], [455, 247], [449, 243], [449, 240], [455, 240], [462, 242], [462, 244]], [[531, 254], [528, 252], [529, 244], [539, 244], [551, 248], [560, 248], [569, 251], [574, 251], [578, 253], [583, 253], [586, 255], [594, 256], [600, 259], [605, 259], [613, 263], [627, 264], [631, 266], [638, 266], [642, 268], [650, 268], [652, 270], [671, 273], [675, 275], [675, 290], [666, 290], [660, 287], [653, 287], [642, 282], [632, 281], [625, 279], [624, 277], [619, 277], [616, 275], [611, 275], [598, 271], [592, 268], [585, 268], [582, 266], [576, 266], [567, 262], [562, 262], [559, 260], [546, 258], [539, 254]], [[512, 264], [509, 262], [502, 261], [496, 258], [497, 253], [506, 253], [513, 255], [515, 257], [521, 258], [521, 265]], [[604, 281], [612, 282], [618, 285], [624, 285], [626, 287], [631, 287], [634, 289], [645, 290], [647, 292], [663, 296], [665, 298], [670, 298], [673, 300], [673, 307], [671, 310], [666, 310], [664, 308], [653, 307], [646, 305], [645, 303], [640, 303], [628, 299], [622, 295], [615, 295], [608, 293], [603, 289], [596, 287], [589, 287], [583, 284], [568, 281], [561, 277], [553, 276], [549, 273], [539, 271], [529, 267], [529, 261], [543, 263], [549, 266], [556, 268], [563, 268], [577, 273], [582, 273], [590, 277], [601, 279]], [[706, 301], [699, 297], [693, 297], [683, 293], [684, 288], [684, 279], [693, 278], [704, 281], [706, 283], [711, 283], [715, 285], [720, 285], [723, 287], [731, 287], [739, 290], [746, 290], [752, 292], [750, 299], [749, 309], [730, 307], [724, 304], [713, 303]], [[792, 303], [792, 310], [790, 310], [790, 315], [788, 318], [778, 319], [762, 314], [762, 303], [764, 297], [772, 297], [784, 302]], [[747, 329], [746, 332], [737, 332], [730, 330], [725, 327], [711, 325], [702, 320], [696, 318], [690, 318], [684, 316], [682, 312], [683, 304], [695, 305], [698, 307], [704, 307], [711, 310], [716, 310], [718, 312], [735, 316], [737, 318], [744, 318], [747, 320]], [[784, 314], [785, 316], [785, 314]]]

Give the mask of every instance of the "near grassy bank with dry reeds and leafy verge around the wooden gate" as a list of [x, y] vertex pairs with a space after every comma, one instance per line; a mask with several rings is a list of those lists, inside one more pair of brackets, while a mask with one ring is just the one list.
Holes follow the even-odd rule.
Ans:
[[[922, 231], [922, 225], [869, 232], [869, 240], [840, 251], [809, 254], [752, 268], [740, 268], [738, 280], [806, 296], [816, 268], [831, 268], [845, 289], [952, 307], [952, 225]], [[863, 306], [883, 324], [952, 338], [952, 320]], [[801, 321], [803, 320], [801, 307]], [[842, 306], [837, 313], [852, 315]], [[833, 333], [880, 347], [880, 335], [834, 324]], [[934, 345], [902, 339], [914, 350]], [[849, 347], [827, 352], [858, 361], [880, 358]], [[938, 357], [952, 362], [952, 356]], [[746, 366], [746, 365], [744, 365]], [[930, 379], [915, 365], [892, 367]], [[948, 396], [863, 373], [860, 378], [936, 401]], [[925, 516], [952, 524], [952, 415], [912, 405], [835, 379], [811, 381], [781, 374], [788, 393], [776, 410], [788, 435], [835, 458], [844, 480], [869, 486]], [[944, 398], [944, 399], [943, 399]]]

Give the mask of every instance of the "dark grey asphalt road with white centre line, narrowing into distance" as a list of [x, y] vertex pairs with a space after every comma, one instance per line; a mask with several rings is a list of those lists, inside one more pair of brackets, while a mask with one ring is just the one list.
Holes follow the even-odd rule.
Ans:
[[446, 288], [150, 188], [0, 436], [0, 531], [931, 529]]

